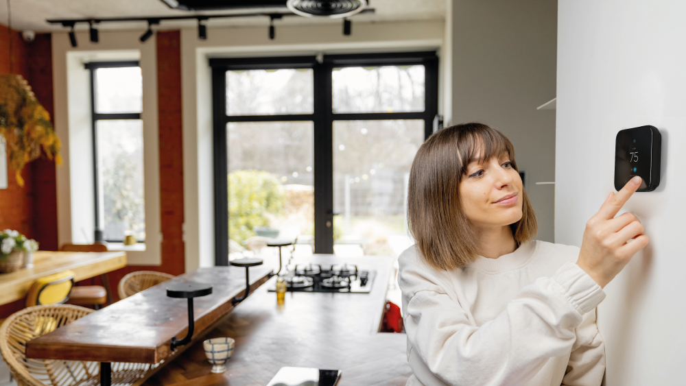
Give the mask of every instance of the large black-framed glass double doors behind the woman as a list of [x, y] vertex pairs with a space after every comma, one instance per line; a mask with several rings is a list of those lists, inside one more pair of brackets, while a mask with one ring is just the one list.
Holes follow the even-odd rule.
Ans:
[[254, 236], [397, 256], [409, 243], [410, 165], [438, 109], [435, 53], [210, 65], [215, 263]]

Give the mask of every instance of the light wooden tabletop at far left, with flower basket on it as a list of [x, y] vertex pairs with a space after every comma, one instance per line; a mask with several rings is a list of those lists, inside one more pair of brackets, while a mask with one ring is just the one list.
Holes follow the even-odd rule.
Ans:
[[[38, 278], [70, 270], [74, 281], [106, 275], [126, 267], [126, 252], [34, 252], [34, 266], [0, 274], [0, 305], [26, 297]], [[106, 286], [108, 299], [110, 288]]]

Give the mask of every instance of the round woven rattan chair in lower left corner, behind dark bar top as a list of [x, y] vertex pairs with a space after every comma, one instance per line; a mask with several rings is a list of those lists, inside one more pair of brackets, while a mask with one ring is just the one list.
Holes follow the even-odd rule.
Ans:
[[[0, 354], [18, 386], [98, 385], [99, 363], [27, 359], [26, 342], [52, 332], [94, 312], [69, 304], [50, 304], [23, 309], [0, 326]], [[131, 385], [156, 365], [113, 363], [113, 385]]]

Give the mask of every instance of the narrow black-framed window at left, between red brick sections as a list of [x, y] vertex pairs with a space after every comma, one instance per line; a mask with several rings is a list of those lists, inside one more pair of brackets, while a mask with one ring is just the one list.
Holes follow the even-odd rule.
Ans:
[[92, 62], [95, 239], [145, 241], [143, 79], [138, 62]]

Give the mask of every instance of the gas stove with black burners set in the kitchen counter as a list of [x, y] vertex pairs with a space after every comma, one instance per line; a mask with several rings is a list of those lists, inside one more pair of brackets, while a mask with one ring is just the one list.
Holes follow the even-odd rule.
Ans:
[[[289, 269], [283, 280], [291, 292], [369, 293], [376, 271], [361, 271], [357, 265], [301, 264]], [[269, 288], [276, 291], [276, 285]]]

